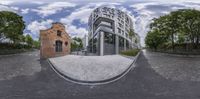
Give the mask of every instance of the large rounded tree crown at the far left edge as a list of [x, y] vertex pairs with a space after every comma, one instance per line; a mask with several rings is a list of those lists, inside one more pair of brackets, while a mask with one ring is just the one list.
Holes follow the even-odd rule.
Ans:
[[9, 38], [15, 44], [20, 41], [24, 29], [22, 16], [14, 12], [0, 11], [0, 38]]

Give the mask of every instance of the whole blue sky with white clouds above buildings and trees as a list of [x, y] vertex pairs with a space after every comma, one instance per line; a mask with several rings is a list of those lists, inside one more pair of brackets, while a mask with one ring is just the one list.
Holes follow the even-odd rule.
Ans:
[[178, 9], [200, 10], [200, 0], [0, 0], [0, 11], [13, 11], [23, 16], [24, 33], [34, 39], [38, 39], [39, 30], [51, 27], [52, 22], [65, 24], [71, 37], [83, 37], [88, 33], [88, 16], [102, 5], [130, 14], [143, 46], [153, 18]]

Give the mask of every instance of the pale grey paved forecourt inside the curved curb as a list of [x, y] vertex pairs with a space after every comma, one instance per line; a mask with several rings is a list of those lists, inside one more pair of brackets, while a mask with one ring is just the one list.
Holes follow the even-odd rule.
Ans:
[[52, 65], [65, 76], [81, 82], [98, 82], [124, 73], [134, 59], [121, 55], [78, 56], [50, 58]]

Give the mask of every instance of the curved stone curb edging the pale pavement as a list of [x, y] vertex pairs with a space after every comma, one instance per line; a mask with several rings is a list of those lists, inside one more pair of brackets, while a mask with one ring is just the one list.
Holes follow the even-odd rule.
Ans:
[[122, 72], [121, 74], [115, 76], [115, 77], [112, 77], [112, 78], [109, 78], [109, 79], [106, 79], [106, 80], [101, 80], [101, 81], [83, 81], [83, 80], [77, 80], [77, 79], [74, 79], [74, 78], [71, 78], [65, 74], [63, 74], [62, 72], [60, 72], [55, 66], [53, 63], [51, 63], [51, 61], [49, 59], [47, 59], [48, 63], [50, 64], [51, 68], [62, 78], [64, 78], [65, 80], [67, 81], [70, 81], [72, 83], [76, 83], [76, 84], [81, 84], [81, 85], [103, 85], [103, 84], [108, 84], [108, 83], [111, 83], [111, 82], [114, 82], [114, 81], [117, 81], [119, 79], [121, 79], [122, 77], [124, 77], [130, 70], [133, 70], [133, 67], [135, 67], [135, 62], [137, 61], [138, 57], [140, 56], [140, 53], [141, 51], [136, 55], [134, 61], [131, 63], [131, 65], [124, 71]]

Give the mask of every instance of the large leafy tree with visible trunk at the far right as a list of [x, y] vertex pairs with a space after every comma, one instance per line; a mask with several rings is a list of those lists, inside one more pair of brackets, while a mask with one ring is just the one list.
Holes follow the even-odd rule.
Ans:
[[173, 11], [168, 15], [153, 19], [150, 31], [162, 31], [167, 36], [167, 41], [174, 51], [175, 45], [191, 43], [193, 49], [200, 43], [200, 11], [194, 9], [182, 9]]

